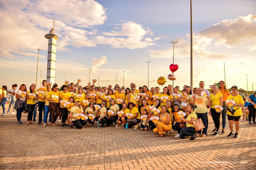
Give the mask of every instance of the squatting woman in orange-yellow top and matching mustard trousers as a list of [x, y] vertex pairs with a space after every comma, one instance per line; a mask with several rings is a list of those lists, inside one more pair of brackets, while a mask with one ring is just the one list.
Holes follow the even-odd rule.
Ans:
[[161, 115], [159, 120], [154, 123], [156, 128], [153, 129], [154, 133], [158, 133], [157, 137], [164, 137], [166, 132], [171, 131], [171, 115], [166, 112], [166, 106], [161, 107]]

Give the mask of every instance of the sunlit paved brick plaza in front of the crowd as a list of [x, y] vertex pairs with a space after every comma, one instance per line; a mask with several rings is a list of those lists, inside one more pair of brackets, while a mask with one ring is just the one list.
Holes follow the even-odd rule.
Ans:
[[227, 137], [227, 124], [226, 135], [191, 142], [175, 138], [176, 131], [157, 138], [151, 130], [113, 126], [26, 125], [26, 117], [17, 125], [16, 115], [0, 116], [0, 169], [256, 169], [256, 125], [247, 122], [238, 139]]

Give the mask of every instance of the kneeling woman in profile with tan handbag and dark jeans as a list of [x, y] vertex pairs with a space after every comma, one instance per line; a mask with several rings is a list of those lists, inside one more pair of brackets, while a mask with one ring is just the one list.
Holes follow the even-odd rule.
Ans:
[[197, 106], [194, 106], [193, 104], [189, 104], [187, 107], [187, 111], [189, 112], [187, 118], [185, 119], [184, 117], [179, 117], [182, 121], [186, 122], [186, 126], [185, 128], [182, 128], [181, 134], [179, 135], [179, 137], [181, 139], [185, 139], [187, 136], [191, 136], [191, 139], [189, 140], [194, 140], [196, 139], [196, 130], [195, 130], [195, 126], [193, 125], [193, 121], [197, 120], [197, 115], [196, 112], [194, 112], [195, 108]]

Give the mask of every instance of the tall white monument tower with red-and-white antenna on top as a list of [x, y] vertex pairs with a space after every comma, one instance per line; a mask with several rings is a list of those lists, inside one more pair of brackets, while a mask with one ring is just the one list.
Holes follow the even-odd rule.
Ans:
[[53, 18], [53, 28], [44, 37], [48, 41], [48, 58], [47, 58], [47, 82], [55, 82], [55, 63], [56, 63], [56, 47], [58, 36], [54, 34], [55, 18]]

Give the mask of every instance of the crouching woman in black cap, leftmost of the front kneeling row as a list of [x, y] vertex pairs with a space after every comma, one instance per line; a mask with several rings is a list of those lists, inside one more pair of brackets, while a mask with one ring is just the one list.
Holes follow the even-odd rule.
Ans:
[[83, 114], [82, 106], [80, 106], [79, 103], [80, 103], [80, 101], [78, 99], [76, 99], [75, 105], [70, 110], [69, 116], [72, 118], [71, 128], [73, 128], [73, 125], [74, 125], [76, 128], [82, 129], [82, 127], [87, 124], [86, 120], [82, 120], [81, 118], [78, 119], [76, 116], [77, 113]]

